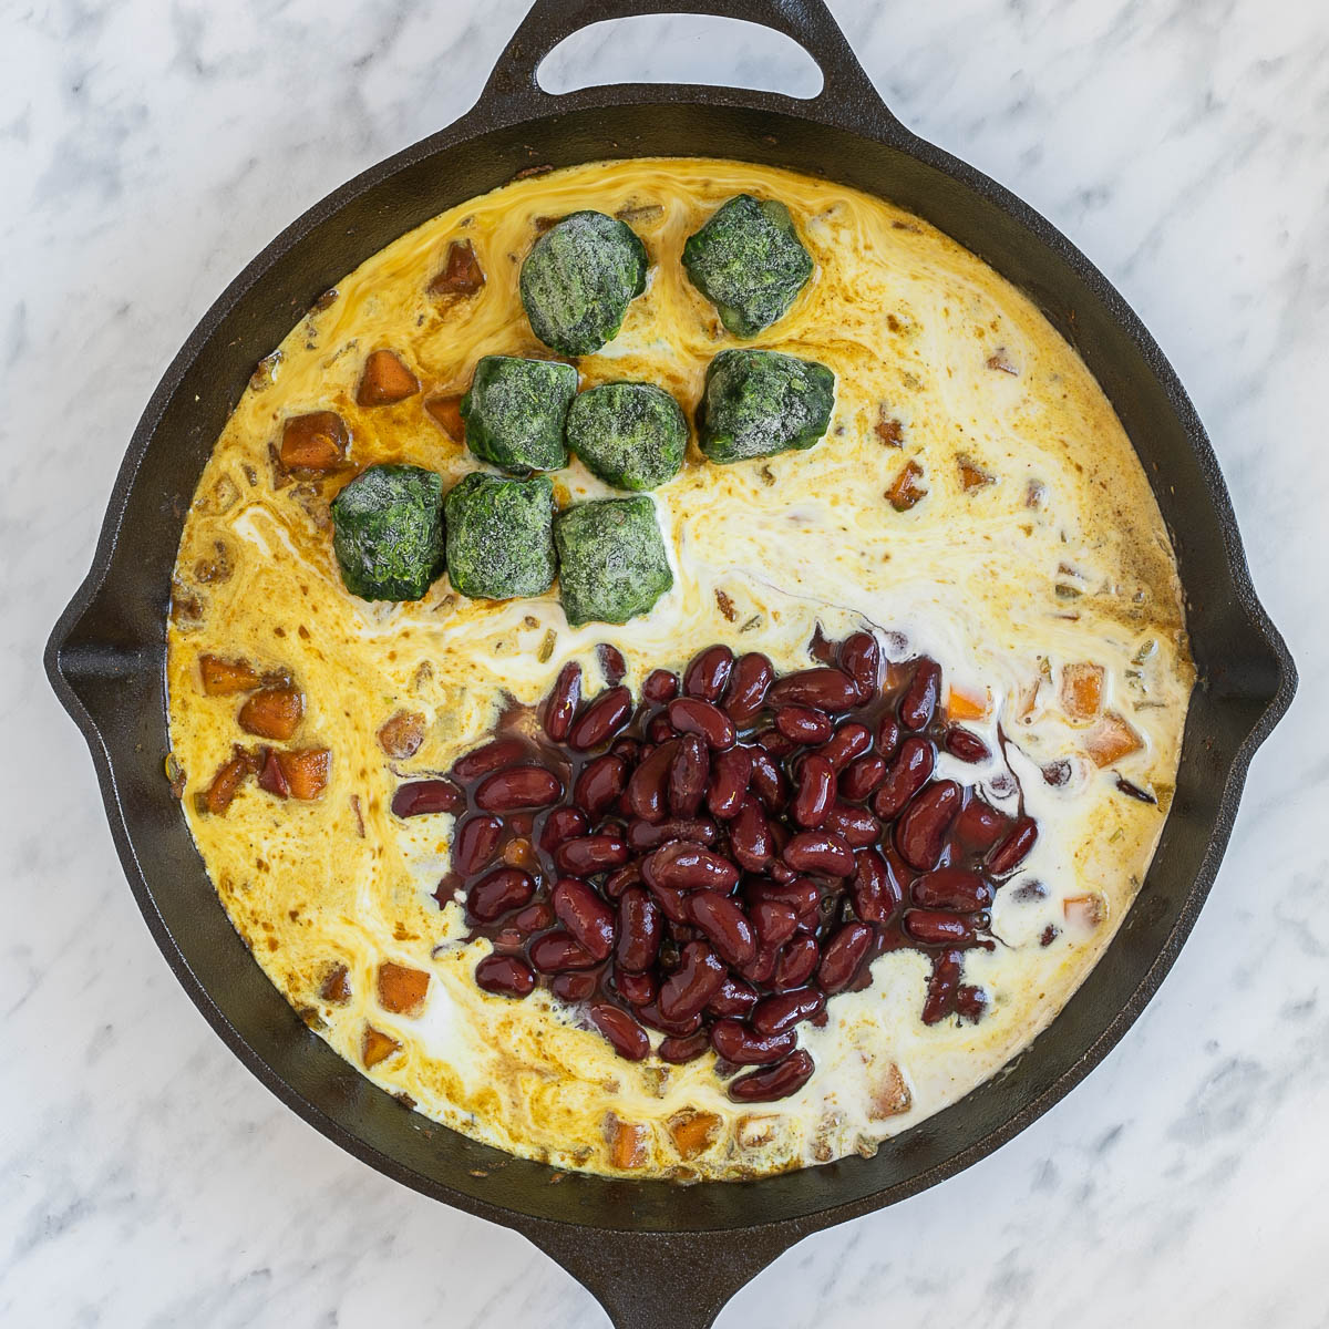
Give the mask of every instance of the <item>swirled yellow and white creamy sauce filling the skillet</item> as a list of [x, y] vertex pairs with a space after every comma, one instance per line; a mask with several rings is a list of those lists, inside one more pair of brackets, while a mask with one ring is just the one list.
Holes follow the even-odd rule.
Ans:
[[[619, 336], [579, 361], [582, 387], [646, 379], [691, 416], [707, 363], [735, 343], [679, 254], [739, 191], [784, 201], [816, 260], [791, 312], [754, 344], [835, 371], [827, 437], [730, 466], [694, 445], [654, 494], [674, 589], [623, 627], [570, 629], [557, 594], [469, 601], [447, 578], [419, 603], [351, 597], [331, 549], [338, 486], [383, 460], [453, 482], [476, 461], [424, 404], [464, 391], [481, 355], [549, 355], [517, 298], [537, 218], [593, 207], [638, 231], [647, 291]], [[427, 288], [455, 239], [472, 242], [488, 280], [474, 296], [440, 300]], [[423, 392], [361, 409], [356, 383], [379, 348], [401, 355]], [[315, 409], [350, 425], [354, 470], [275, 488], [268, 449], [282, 421]], [[926, 496], [900, 512], [885, 490], [910, 460]], [[609, 493], [577, 462], [554, 485], [561, 502]], [[738, 162], [610, 162], [518, 181], [375, 255], [245, 393], [199, 482], [177, 581], [169, 688], [182, 805], [255, 958], [354, 1065], [367, 1026], [396, 1039], [400, 1050], [367, 1074], [419, 1111], [513, 1154], [599, 1172], [615, 1171], [611, 1143], [625, 1128], [634, 1175], [751, 1176], [870, 1152], [993, 1075], [1061, 1010], [1130, 906], [1171, 801], [1193, 680], [1162, 518], [1075, 352], [1023, 295], [910, 214]], [[800, 1026], [812, 1079], [784, 1102], [739, 1107], [708, 1055], [629, 1063], [548, 993], [480, 991], [470, 975], [489, 944], [465, 944], [461, 908], [432, 898], [452, 819], [395, 819], [401, 777], [445, 771], [493, 726], [504, 694], [538, 702], [570, 659], [590, 690], [601, 686], [599, 642], [622, 651], [635, 691], [651, 668], [680, 668], [712, 642], [762, 650], [779, 671], [805, 667], [819, 623], [831, 638], [874, 626], [893, 659], [932, 655], [952, 687], [979, 706], [990, 698], [985, 716], [966, 720], [990, 750], [998, 724], [1009, 739], [1041, 836], [998, 893], [1001, 944], [968, 953], [965, 981], [991, 994], [985, 1018], [924, 1026], [929, 961], [886, 954], [870, 987], [831, 1001], [825, 1027]], [[279, 801], [249, 781], [225, 816], [197, 811], [194, 793], [245, 740], [239, 699], [202, 695], [205, 651], [291, 671], [307, 696], [298, 742], [332, 750], [320, 800]], [[1110, 722], [1071, 720], [1062, 703], [1065, 667], [1083, 662], [1103, 670], [1103, 712], [1140, 744], [1102, 768], [1087, 754]], [[428, 723], [404, 762], [375, 739], [401, 708]], [[1041, 773], [1054, 762], [1069, 763], [1055, 787]], [[994, 771], [940, 760], [962, 783]], [[1156, 805], [1123, 795], [1119, 776]], [[1042, 893], [1021, 889], [1031, 882]], [[419, 1017], [380, 1007], [383, 961], [431, 973]], [[335, 965], [348, 970], [344, 1003], [320, 995]], [[690, 1112], [718, 1118], [695, 1156], [671, 1128]]]

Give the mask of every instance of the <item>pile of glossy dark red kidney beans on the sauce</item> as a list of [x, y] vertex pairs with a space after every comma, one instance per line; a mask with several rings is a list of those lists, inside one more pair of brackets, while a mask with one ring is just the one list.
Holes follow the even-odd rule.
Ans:
[[666, 1062], [714, 1049], [722, 1075], [756, 1067], [731, 1079], [735, 1102], [807, 1082], [796, 1026], [868, 986], [885, 950], [932, 957], [926, 1023], [982, 1017], [964, 950], [991, 948], [997, 885], [1038, 828], [934, 777], [938, 748], [989, 756], [948, 723], [934, 661], [888, 675], [872, 634], [819, 635], [821, 663], [776, 678], [764, 655], [711, 646], [634, 702], [619, 653], [599, 651], [599, 694], [569, 664], [536, 736], [500, 726], [449, 779], [393, 797], [397, 816], [457, 815], [437, 900], [460, 889], [490, 938], [482, 989], [544, 983], [631, 1061], [654, 1029]]

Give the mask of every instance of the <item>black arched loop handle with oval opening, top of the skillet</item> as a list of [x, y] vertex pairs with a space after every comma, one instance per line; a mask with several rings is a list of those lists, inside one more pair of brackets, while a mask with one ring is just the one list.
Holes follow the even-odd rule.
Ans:
[[575, 93], [545, 92], [537, 73], [566, 37], [594, 23], [643, 15], [708, 15], [738, 19], [792, 37], [821, 70], [821, 92], [795, 101], [815, 118], [890, 141], [912, 140], [886, 109], [825, 0], [536, 0], [494, 65], [480, 104], [526, 120], [550, 114]]

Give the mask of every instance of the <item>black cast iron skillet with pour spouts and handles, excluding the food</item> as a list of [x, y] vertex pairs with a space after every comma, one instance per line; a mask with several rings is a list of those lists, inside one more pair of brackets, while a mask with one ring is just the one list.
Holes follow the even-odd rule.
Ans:
[[[809, 101], [734, 88], [621, 85], [553, 97], [536, 70], [602, 19], [724, 15], [797, 40]], [[253, 962], [162, 773], [163, 625], [195, 481], [255, 361], [314, 299], [389, 241], [528, 166], [712, 155], [825, 174], [925, 217], [1029, 292], [1116, 408], [1171, 532], [1200, 683], [1176, 800], [1139, 900], [1103, 962], [1007, 1070], [873, 1159], [690, 1188], [569, 1176], [407, 1111], [311, 1034]], [[47, 647], [82, 730], [148, 925], [237, 1057], [319, 1131], [407, 1185], [525, 1233], [619, 1326], [710, 1325], [809, 1232], [958, 1172], [1066, 1094], [1122, 1037], [1176, 958], [1213, 881], [1251, 755], [1296, 671], [1255, 598], [1204, 429], [1154, 339], [1100, 272], [999, 185], [910, 134], [881, 104], [821, 0], [537, 0], [476, 106], [351, 181], [279, 235], [207, 311], [129, 447], [92, 571]]]

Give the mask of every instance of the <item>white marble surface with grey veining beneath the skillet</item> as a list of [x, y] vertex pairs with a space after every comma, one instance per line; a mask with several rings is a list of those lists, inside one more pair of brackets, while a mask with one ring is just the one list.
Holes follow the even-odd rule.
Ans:
[[[606, 1322], [522, 1239], [342, 1154], [206, 1029], [39, 668], [195, 319], [310, 202], [462, 112], [524, 8], [0, 4], [0, 1324]], [[995, 1156], [789, 1252], [719, 1324], [1329, 1325], [1329, 9], [833, 9], [901, 118], [1050, 215], [1154, 330], [1304, 682], [1124, 1045]], [[800, 69], [779, 44], [686, 33], [629, 32], [613, 52], [593, 35], [577, 68]]]

